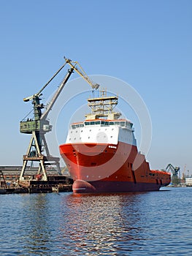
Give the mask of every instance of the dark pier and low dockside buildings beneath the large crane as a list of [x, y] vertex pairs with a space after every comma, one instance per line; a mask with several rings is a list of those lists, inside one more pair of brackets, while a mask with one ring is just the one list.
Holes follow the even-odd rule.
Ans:
[[73, 180], [67, 171], [66, 175], [58, 175], [56, 170], [49, 169], [47, 181], [43, 181], [37, 174], [38, 167], [27, 166], [24, 180], [20, 181], [21, 170], [22, 166], [0, 166], [0, 194], [72, 191]]

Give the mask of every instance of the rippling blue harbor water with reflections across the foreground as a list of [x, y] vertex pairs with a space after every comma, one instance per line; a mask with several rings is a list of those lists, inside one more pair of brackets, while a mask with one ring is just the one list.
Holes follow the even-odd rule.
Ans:
[[0, 255], [192, 255], [191, 195], [0, 195]]

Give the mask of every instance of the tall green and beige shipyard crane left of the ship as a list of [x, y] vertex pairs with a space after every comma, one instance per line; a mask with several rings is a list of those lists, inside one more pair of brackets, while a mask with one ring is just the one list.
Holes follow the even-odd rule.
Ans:
[[[52, 157], [50, 155], [50, 151], [45, 140], [45, 134], [52, 130], [52, 125], [50, 125], [50, 121], [47, 119], [47, 116], [50, 113], [50, 110], [53, 108], [56, 99], [58, 99], [59, 94], [61, 94], [62, 89], [64, 89], [64, 86], [72, 75], [72, 72], [77, 72], [77, 74], [79, 74], [87, 83], [89, 83], [92, 89], [99, 88], [99, 84], [93, 83], [93, 81], [88, 78], [88, 75], [86, 75], [85, 71], [77, 61], [72, 61], [70, 59], [66, 59], [65, 57], [64, 59], [65, 63], [58, 69], [57, 72], [55, 72], [53, 77], [48, 80], [45, 86], [43, 86], [42, 89], [37, 92], [37, 94], [23, 99], [24, 102], [32, 101], [34, 118], [27, 119], [26, 121], [20, 121], [20, 132], [32, 134], [26, 155], [23, 156], [23, 167], [20, 173], [20, 181], [24, 180], [24, 173], [26, 171], [28, 161], [39, 162], [39, 170], [37, 175], [41, 177], [43, 181], [47, 181], [46, 165], [55, 165], [58, 169], [58, 173], [61, 174], [59, 164], [60, 158]], [[47, 105], [46, 110], [42, 113], [42, 109], [45, 108], [45, 105], [41, 103], [42, 91], [50, 84], [53, 78], [58, 75], [66, 64], [69, 64], [70, 69], [68, 69], [64, 80], [62, 80], [57, 91], [55, 91], [55, 94]], [[43, 148], [45, 148], [46, 155], [42, 154]]]

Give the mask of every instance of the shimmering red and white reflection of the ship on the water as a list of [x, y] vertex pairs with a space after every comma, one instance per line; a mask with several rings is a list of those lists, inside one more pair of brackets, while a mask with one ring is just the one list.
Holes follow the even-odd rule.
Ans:
[[63, 203], [68, 211], [60, 239], [68, 241], [76, 252], [116, 255], [125, 241], [128, 251], [143, 239], [139, 236], [142, 214], [138, 194], [69, 195]]

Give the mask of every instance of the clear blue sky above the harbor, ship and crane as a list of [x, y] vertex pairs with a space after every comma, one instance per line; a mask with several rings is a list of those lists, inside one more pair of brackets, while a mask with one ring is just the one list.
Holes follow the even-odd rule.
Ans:
[[[152, 121], [150, 166], [186, 165], [192, 174], [191, 0], [1, 0], [0, 6], [0, 165], [22, 165], [30, 136], [20, 134], [19, 122], [31, 110], [23, 97], [39, 91], [66, 56], [88, 75], [133, 86]], [[116, 92], [123, 95], [118, 86]]]

